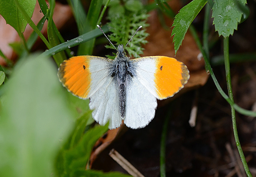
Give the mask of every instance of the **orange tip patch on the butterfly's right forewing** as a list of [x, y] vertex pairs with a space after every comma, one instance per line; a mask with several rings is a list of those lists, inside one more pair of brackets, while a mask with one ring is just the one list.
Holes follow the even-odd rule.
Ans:
[[159, 56], [156, 60], [155, 84], [158, 99], [172, 97], [188, 82], [187, 66], [167, 56]]

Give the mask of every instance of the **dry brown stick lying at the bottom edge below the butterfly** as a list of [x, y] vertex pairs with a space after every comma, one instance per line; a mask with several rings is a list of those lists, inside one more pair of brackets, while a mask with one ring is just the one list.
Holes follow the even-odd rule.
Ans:
[[130, 162], [128, 162], [124, 157], [119, 154], [115, 149], [112, 149], [108, 154], [112, 159], [114, 159], [120, 166], [124, 168], [130, 175], [144, 177]]

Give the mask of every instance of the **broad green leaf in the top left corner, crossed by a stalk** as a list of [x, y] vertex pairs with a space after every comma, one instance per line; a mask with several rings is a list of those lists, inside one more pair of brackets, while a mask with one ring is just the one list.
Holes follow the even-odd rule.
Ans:
[[[28, 16], [31, 18], [36, 0], [17, 0], [19, 4], [25, 9]], [[7, 24], [10, 24], [19, 34], [23, 33], [27, 26], [27, 21], [23, 15], [18, 11], [14, 0], [1, 0], [0, 1], [0, 14], [4, 17]]]

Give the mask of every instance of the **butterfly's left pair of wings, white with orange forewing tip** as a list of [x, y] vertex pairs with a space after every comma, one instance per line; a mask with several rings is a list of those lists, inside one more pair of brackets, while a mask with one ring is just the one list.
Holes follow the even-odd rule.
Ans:
[[69, 92], [82, 99], [90, 98], [92, 117], [100, 125], [109, 121], [109, 129], [122, 123], [116, 82], [109, 76], [112, 62], [98, 56], [75, 56], [61, 63], [58, 71]]

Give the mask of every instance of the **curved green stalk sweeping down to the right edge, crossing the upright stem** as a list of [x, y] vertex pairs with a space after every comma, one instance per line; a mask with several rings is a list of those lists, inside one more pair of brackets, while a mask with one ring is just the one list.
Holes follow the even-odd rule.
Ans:
[[214, 84], [216, 85], [218, 91], [220, 92], [221, 96], [231, 105], [233, 106], [237, 112], [241, 113], [241, 114], [244, 114], [244, 115], [247, 115], [247, 116], [252, 116], [252, 117], [256, 117], [256, 112], [253, 112], [253, 111], [249, 111], [249, 110], [246, 110], [242, 107], [239, 107], [237, 104], [234, 103], [234, 101], [230, 100], [228, 95], [221, 89], [220, 87], [220, 84], [219, 82], [217, 81], [213, 71], [212, 71], [212, 68], [211, 68], [211, 65], [210, 65], [210, 60], [209, 60], [209, 57], [206, 55], [203, 47], [202, 47], [202, 44], [200, 42], [200, 39], [199, 37], [197, 36], [197, 33], [196, 33], [196, 29], [194, 28], [193, 25], [190, 25], [190, 27], [188, 28], [189, 31], [191, 32], [193, 38], [195, 39], [196, 41], [196, 45], [197, 47], [200, 49], [203, 57], [204, 57], [204, 61], [205, 61], [205, 64], [207, 65], [208, 69], [209, 69], [209, 72], [211, 74], [211, 77], [212, 77], [212, 80], [214, 82]]

